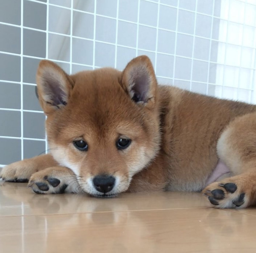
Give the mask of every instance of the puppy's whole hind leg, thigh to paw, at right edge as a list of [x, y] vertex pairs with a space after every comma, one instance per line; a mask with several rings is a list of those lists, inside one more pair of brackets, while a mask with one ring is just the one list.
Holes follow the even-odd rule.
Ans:
[[203, 193], [215, 207], [244, 208], [256, 204], [256, 114], [236, 118], [221, 134], [217, 152], [233, 177], [209, 184]]

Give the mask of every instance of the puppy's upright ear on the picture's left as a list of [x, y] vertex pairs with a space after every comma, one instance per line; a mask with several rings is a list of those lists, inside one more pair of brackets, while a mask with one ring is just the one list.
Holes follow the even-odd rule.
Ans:
[[36, 80], [38, 99], [46, 115], [68, 103], [74, 84], [69, 75], [57, 64], [41, 60]]

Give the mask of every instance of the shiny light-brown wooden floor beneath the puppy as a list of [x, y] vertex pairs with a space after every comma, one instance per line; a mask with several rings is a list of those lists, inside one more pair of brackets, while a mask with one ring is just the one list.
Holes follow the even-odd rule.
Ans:
[[214, 209], [200, 193], [99, 199], [0, 182], [0, 252], [255, 253], [256, 209]]

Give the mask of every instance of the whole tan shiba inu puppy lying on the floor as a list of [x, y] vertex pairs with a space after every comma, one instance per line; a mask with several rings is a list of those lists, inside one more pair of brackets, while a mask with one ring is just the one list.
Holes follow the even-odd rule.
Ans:
[[256, 203], [256, 106], [157, 84], [146, 56], [120, 72], [37, 72], [50, 153], [3, 168], [35, 193], [203, 191], [214, 207]]

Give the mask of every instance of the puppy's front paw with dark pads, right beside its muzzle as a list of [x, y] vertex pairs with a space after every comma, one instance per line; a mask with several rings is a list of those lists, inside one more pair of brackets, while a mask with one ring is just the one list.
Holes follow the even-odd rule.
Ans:
[[28, 187], [37, 194], [79, 192], [76, 176], [64, 167], [50, 167], [33, 174], [29, 179]]

